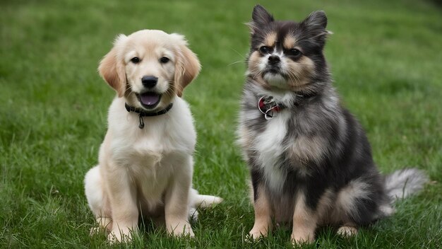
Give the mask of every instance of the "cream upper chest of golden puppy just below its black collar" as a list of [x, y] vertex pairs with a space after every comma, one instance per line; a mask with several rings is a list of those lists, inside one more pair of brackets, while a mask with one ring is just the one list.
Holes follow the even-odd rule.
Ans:
[[[149, 168], [179, 155], [191, 155], [196, 144], [191, 112], [177, 98], [172, 110], [155, 117], [143, 117], [145, 127], [138, 128], [139, 117], [124, 110], [117, 99], [109, 111], [109, 131], [112, 132], [112, 155], [121, 165]], [[112, 125], [111, 125], [112, 124]], [[116, 125], [114, 125], [116, 124]]]

